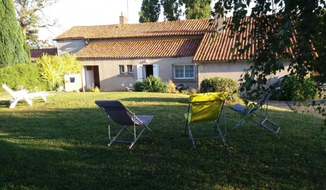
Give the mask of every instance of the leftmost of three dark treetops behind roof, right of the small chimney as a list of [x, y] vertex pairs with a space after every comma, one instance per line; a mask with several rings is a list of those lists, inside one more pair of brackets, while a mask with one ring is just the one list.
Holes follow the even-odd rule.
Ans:
[[139, 12], [139, 22], [157, 22], [161, 11], [160, 0], [143, 0]]

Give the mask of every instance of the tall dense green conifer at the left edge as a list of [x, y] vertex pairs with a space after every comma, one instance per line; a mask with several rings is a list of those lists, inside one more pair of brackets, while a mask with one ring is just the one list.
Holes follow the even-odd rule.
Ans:
[[12, 0], [0, 0], [0, 68], [30, 62], [30, 53], [17, 23]]

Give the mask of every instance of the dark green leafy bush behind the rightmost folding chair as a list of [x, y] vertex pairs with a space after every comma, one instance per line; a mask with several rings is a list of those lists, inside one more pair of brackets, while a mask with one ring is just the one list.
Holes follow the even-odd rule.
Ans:
[[299, 76], [288, 76], [282, 81], [279, 88], [272, 92], [271, 98], [281, 101], [303, 101], [314, 99], [317, 95], [318, 85], [310, 78]]

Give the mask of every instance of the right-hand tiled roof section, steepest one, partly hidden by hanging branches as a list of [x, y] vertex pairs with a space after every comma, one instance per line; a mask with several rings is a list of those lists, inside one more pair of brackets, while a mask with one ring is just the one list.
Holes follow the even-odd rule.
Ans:
[[[231, 22], [232, 18], [226, 18], [226, 24]], [[250, 33], [252, 27], [254, 26], [254, 20], [246, 17], [245, 21], [250, 21], [250, 24], [247, 26], [246, 31], [238, 35], [237, 37], [242, 40]], [[236, 58], [237, 60], [245, 60], [250, 59], [250, 55], [254, 54], [254, 45], [249, 48], [249, 51], [246, 51], [245, 54], [242, 54], [240, 57], [234, 57], [237, 52], [232, 52], [232, 48], [235, 47], [236, 40], [235, 38], [229, 38], [231, 35], [231, 30], [226, 27], [223, 33], [216, 35], [215, 38], [211, 38], [213, 32], [208, 31], [200, 45], [199, 48], [193, 58], [193, 62], [199, 61], [228, 61]], [[235, 34], [237, 35], [237, 34]], [[293, 38], [295, 40], [295, 38]], [[293, 40], [291, 39], [291, 40]], [[242, 40], [242, 44], [239, 48], [243, 48], [245, 45], [249, 43], [253, 44], [250, 40]], [[288, 48], [287, 52], [292, 53], [292, 48]]]

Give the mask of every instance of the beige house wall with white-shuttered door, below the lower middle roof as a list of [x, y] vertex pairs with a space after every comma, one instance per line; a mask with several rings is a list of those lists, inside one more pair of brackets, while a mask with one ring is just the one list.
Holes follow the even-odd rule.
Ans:
[[[148, 60], [148, 63], [145, 60]], [[143, 66], [143, 78], [145, 79], [146, 65], [159, 65], [159, 76], [164, 81], [173, 80], [174, 64], [193, 64], [192, 57], [164, 57], [164, 58], [138, 58], [138, 59], [79, 59], [83, 66], [98, 66], [101, 91], [126, 91], [137, 80], [137, 66]], [[119, 65], [124, 65], [125, 74], [121, 75]], [[133, 66], [133, 74], [128, 74], [127, 65]], [[176, 85], [183, 83], [192, 88], [198, 88], [197, 67], [194, 66], [194, 79], [173, 80]], [[85, 75], [85, 72], [83, 72]], [[85, 78], [85, 76], [83, 76]], [[84, 83], [85, 84], [85, 83]], [[87, 89], [87, 86], [84, 86]]]

